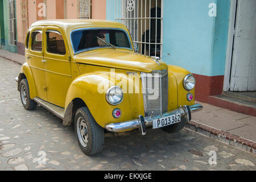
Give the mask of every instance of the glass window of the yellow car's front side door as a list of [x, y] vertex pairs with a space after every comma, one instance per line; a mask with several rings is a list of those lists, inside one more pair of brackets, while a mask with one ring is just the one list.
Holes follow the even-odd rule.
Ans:
[[56, 53], [59, 55], [66, 54], [66, 48], [63, 36], [60, 32], [55, 30], [46, 31], [47, 36], [47, 51], [49, 53]]

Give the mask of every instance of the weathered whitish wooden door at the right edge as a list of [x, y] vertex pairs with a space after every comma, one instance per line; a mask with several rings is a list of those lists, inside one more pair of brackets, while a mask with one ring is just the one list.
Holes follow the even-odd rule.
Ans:
[[230, 1], [224, 91], [256, 91], [256, 1]]

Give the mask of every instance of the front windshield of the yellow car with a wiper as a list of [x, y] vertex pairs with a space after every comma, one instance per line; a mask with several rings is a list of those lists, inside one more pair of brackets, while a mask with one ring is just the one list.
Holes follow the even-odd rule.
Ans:
[[126, 32], [119, 29], [75, 30], [71, 42], [75, 53], [102, 47], [131, 49]]

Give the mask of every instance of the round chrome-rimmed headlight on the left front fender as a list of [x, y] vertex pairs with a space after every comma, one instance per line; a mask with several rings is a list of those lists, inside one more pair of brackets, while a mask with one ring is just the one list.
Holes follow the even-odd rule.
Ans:
[[106, 92], [106, 101], [110, 105], [118, 105], [123, 101], [123, 90], [119, 86], [112, 86]]

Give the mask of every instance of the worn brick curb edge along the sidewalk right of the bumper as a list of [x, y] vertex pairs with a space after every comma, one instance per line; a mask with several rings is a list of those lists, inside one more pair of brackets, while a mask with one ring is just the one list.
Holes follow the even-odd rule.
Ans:
[[193, 131], [206, 135], [207, 137], [225, 142], [230, 146], [238, 147], [247, 152], [256, 154], [256, 143], [251, 140], [238, 137], [237, 135], [228, 133], [226, 131], [214, 129], [213, 127], [203, 125], [196, 121], [189, 121], [188, 123], [186, 123], [185, 127], [187, 129], [191, 129]]

